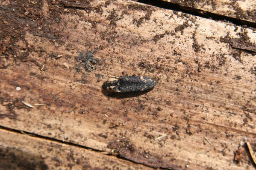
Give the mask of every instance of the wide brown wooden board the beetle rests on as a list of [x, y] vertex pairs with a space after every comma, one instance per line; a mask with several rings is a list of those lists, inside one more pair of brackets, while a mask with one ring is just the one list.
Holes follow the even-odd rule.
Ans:
[[[0, 17], [2, 127], [147, 167], [253, 169], [233, 161], [256, 140], [253, 30], [122, 0], [2, 3]], [[158, 84], [102, 88], [122, 74]]]

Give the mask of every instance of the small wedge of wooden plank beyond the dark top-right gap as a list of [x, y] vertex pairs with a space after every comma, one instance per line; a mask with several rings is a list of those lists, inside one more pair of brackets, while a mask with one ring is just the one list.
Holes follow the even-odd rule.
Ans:
[[184, 7], [256, 23], [255, 0], [163, 0]]

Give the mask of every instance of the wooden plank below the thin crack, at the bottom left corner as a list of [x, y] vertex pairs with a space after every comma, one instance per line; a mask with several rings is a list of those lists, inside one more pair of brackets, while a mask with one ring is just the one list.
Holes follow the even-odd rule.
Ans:
[[1, 170], [145, 170], [140, 164], [81, 147], [0, 129]]

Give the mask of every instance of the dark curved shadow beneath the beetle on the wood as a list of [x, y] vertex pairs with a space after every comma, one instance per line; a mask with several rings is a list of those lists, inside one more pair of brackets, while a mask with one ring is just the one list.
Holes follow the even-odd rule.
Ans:
[[125, 99], [125, 98], [131, 98], [131, 97], [137, 97], [137, 96], [141, 96], [143, 94], [148, 93], [149, 91], [151, 91], [153, 88], [150, 88], [146, 91], [137, 91], [137, 92], [125, 92], [125, 93], [117, 93], [117, 92], [109, 92], [106, 91], [106, 88], [104, 86], [104, 84], [101, 86], [101, 92], [104, 96], [108, 96], [108, 97], [112, 97], [112, 98], [116, 98], [116, 99]]

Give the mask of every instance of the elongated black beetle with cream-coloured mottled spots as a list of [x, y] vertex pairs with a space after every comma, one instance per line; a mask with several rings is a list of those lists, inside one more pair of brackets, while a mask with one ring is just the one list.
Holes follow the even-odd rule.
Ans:
[[111, 77], [104, 86], [107, 91], [126, 93], [146, 91], [156, 85], [156, 80], [146, 76], [124, 76], [124, 77]]

